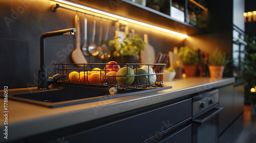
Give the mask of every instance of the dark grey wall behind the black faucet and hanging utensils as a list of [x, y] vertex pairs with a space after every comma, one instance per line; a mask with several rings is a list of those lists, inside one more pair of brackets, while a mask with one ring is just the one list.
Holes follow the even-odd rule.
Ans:
[[[74, 27], [76, 12], [59, 8], [51, 11], [56, 4], [48, 0], [10, 0], [0, 2], [0, 89], [4, 86], [20, 88], [37, 85], [40, 64], [39, 38], [42, 33]], [[110, 6], [108, 6], [110, 7]], [[100, 9], [100, 8], [98, 8]], [[128, 14], [129, 15], [129, 14]], [[80, 14], [83, 18], [83, 14]], [[97, 20], [96, 43], [98, 43], [99, 18]], [[83, 26], [83, 21], [80, 21]], [[89, 43], [92, 41], [92, 16], [88, 16]], [[148, 34], [149, 42], [158, 52], [173, 51], [174, 46], [184, 45], [184, 39], [152, 29], [129, 24], [141, 37]], [[114, 37], [115, 26], [110, 27], [107, 42]], [[81, 32], [83, 28], [81, 28]], [[83, 33], [81, 33], [83, 37]], [[46, 38], [46, 64], [48, 74], [53, 75], [51, 63], [73, 63], [71, 53], [75, 49], [76, 36], [56, 36]], [[83, 42], [81, 41], [81, 44]], [[111, 51], [114, 48], [111, 47]], [[98, 57], [86, 57], [91, 63], [102, 63]], [[111, 58], [110, 60], [114, 60]], [[75, 67], [77, 68], [77, 67]]]

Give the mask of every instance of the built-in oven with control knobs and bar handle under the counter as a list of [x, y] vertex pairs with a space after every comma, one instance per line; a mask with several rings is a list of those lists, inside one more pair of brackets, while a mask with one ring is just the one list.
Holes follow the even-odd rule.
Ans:
[[193, 97], [193, 142], [218, 142], [219, 90]]

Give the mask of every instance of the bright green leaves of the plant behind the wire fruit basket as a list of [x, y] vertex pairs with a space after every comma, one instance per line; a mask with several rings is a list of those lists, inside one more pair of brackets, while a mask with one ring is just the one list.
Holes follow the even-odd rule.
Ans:
[[109, 46], [114, 44], [115, 51], [113, 53], [114, 57], [118, 56], [136, 56], [141, 50], [144, 50], [146, 46], [145, 42], [140, 38], [140, 35], [135, 34], [134, 38], [130, 38], [130, 33], [125, 33], [125, 37], [122, 42], [117, 43], [118, 36], [114, 37], [113, 40], [109, 42]]

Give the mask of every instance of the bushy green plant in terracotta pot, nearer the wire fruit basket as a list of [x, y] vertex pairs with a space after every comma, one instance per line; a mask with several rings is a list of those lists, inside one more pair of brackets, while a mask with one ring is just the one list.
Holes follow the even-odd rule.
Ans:
[[178, 56], [184, 65], [186, 76], [196, 76], [197, 65], [199, 63], [197, 51], [193, 47], [182, 46], [178, 51]]

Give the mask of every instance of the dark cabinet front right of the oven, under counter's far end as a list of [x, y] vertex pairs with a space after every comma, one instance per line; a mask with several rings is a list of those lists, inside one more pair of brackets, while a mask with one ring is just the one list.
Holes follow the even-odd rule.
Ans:
[[234, 142], [243, 130], [244, 85], [220, 88], [219, 142]]

